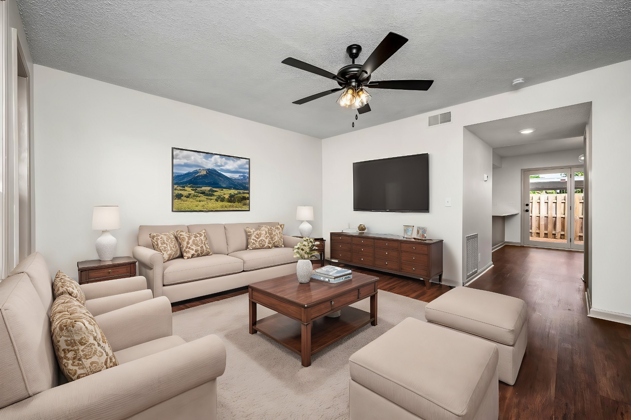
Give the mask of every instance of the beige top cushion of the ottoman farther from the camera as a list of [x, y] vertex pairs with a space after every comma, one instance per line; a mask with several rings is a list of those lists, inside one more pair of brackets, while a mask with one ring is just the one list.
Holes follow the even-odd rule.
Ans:
[[516, 297], [456, 287], [427, 304], [425, 318], [512, 346], [528, 318], [528, 310], [526, 302]]

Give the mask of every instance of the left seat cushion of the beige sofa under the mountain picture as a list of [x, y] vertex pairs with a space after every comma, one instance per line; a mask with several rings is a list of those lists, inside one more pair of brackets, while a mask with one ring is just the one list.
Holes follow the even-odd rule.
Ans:
[[243, 260], [222, 254], [176, 258], [164, 263], [163, 285], [186, 283], [243, 271]]

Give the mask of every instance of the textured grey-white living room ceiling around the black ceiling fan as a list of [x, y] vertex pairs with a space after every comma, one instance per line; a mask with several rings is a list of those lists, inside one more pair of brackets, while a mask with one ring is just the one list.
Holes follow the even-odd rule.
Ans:
[[[631, 2], [553, 0], [18, 0], [37, 64], [326, 138], [631, 59]], [[373, 80], [434, 79], [422, 91], [372, 89], [355, 112], [329, 79], [363, 62], [388, 31], [410, 39]], [[580, 87], [577, 87], [580, 88]]]

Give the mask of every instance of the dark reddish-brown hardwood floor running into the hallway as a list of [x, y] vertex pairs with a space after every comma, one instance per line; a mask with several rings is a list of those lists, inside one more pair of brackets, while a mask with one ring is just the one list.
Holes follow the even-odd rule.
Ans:
[[[631, 326], [587, 317], [583, 254], [507, 245], [493, 253], [493, 264], [469, 287], [521, 298], [529, 312], [528, 347], [517, 382], [512, 387], [500, 382], [500, 419], [631, 419]], [[424, 302], [450, 290], [356, 271], [379, 276], [381, 290]], [[244, 293], [179, 302], [173, 310]]]

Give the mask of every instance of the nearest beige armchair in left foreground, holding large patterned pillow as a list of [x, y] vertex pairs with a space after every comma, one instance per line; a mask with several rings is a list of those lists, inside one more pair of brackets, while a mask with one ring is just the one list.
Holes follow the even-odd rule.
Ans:
[[225, 347], [216, 336], [172, 335], [165, 297], [122, 297], [122, 307], [95, 316], [119, 366], [66, 382], [50, 336], [50, 273], [39, 254], [25, 261], [0, 281], [0, 420], [216, 419]]

